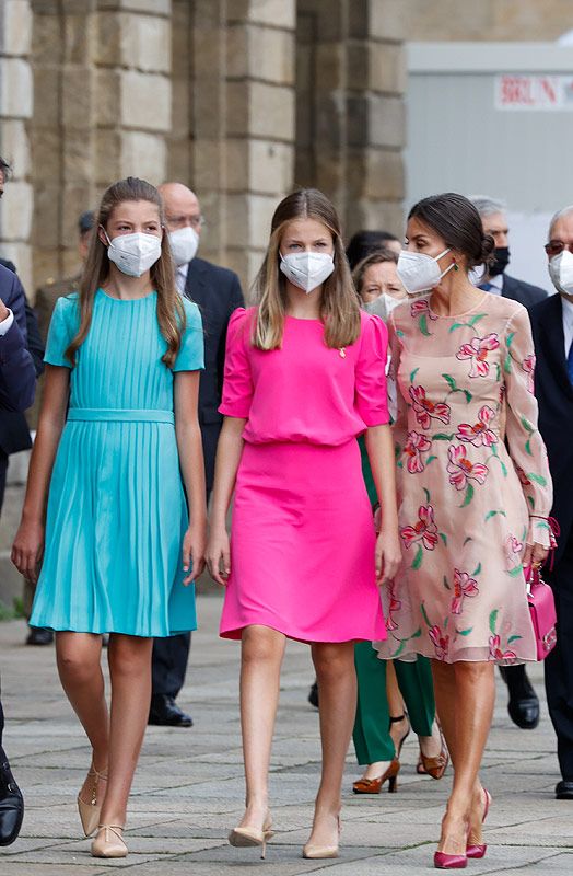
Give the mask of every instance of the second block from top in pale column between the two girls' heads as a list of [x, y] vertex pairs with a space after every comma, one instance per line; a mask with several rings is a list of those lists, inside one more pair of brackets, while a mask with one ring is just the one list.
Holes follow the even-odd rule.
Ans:
[[227, 76], [249, 76], [281, 85], [294, 83], [294, 34], [258, 25], [235, 25], [227, 32]]

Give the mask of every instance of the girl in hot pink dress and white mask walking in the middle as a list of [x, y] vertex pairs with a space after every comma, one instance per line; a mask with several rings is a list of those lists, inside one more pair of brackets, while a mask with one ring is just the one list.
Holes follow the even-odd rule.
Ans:
[[[221, 635], [242, 642], [246, 810], [232, 845], [265, 846], [271, 832], [268, 770], [289, 637], [311, 645], [320, 692], [323, 774], [303, 854], [338, 855], [353, 643], [385, 636], [377, 584], [400, 555], [386, 339], [383, 322], [360, 312], [332, 205], [316, 189], [284, 198], [258, 307], [235, 311], [229, 326], [208, 549], [226, 587]], [[384, 508], [377, 538], [362, 433]]]

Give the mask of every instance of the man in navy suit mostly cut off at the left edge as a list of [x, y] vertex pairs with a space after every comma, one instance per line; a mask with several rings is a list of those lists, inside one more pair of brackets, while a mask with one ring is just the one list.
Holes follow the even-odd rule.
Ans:
[[[0, 197], [9, 164], [0, 158]], [[34, 401], [36, 370], [26, 348], [24, 290], [16, 275], [0, 265], [0, 416], [21, 413]], [[8, 460], [7, 460], [8, 462]], [[2, 473], [5, 481], [5, 468]], [[24, 817], [24, 800], [2, 748], [4, 713], [0, 701], [0, 845], [14, 842]]]

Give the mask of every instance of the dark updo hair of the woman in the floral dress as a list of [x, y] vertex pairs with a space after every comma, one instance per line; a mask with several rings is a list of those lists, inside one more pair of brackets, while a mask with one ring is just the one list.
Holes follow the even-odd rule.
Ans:
[[495, 242], [483, 233], [481, 217], [473, 204], [456, 192], [430, 195], [414, 204], [408, 220], [419, 219], [443, 238], [446, 246], [466, 256], [468, 270], [493, 261]]

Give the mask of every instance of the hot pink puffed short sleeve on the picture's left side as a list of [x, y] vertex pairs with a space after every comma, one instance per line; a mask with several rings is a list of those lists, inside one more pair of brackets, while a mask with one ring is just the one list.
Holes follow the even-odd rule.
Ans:
[[226, 333], [225, 376], [223, 399], [219, 413], [247, 419], [253, 401], [253, 377], [248, 347], [250, 320], [244, 308], [237, 308], [229, 321]]

